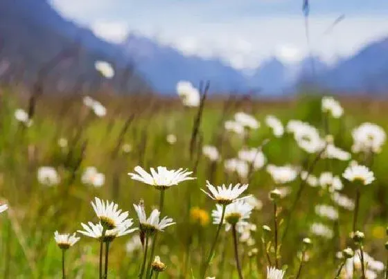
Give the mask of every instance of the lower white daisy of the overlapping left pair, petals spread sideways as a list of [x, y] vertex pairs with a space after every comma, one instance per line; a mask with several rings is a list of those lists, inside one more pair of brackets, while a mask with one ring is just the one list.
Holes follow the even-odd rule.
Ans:
[[[131, 228], [132, 225], [133, 225], [132, 219], [126, 219], [124, 222], [121, 223], [121, 226], [105, 231], [103, 241], [112, 242], [116, 237], [128, 235], [136, 231], [138, 228]], [[103, 225], [101, 225], [101, 223], [98, 223], [98, 224], [93, 224], [92, 222], [88, 222], [87, 224], [81, 223], [81, 226], [82, 228], [84, 228], [85, 231], [78, 231], [78, 233], [81, 233], [82, 235], [85, 235], [87, 237], [96, 238], [97, 240], [101, 239], [103, 235], [103, 230], [104, 230]]]

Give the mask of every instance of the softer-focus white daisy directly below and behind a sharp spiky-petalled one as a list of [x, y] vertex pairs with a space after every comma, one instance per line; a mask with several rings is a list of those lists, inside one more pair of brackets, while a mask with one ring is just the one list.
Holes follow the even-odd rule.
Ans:
[[[212, 211], [213, 224], [220, 224], [222, 217], [221, 204], [216, 204], [216, 209]], [[239, 226], [240, 222], [246, 222], [249, 219], [253, 210], [253, 206], [247, 204], [243, 200], [234, 201], [225, 207], [224, 224], [227, 224], [225, 229], [229, 231], [231, 225]]]

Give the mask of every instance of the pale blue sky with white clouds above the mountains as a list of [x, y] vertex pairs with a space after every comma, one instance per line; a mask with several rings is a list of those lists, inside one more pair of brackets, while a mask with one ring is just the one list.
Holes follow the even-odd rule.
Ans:
[[[388, 37], [387, 0], [310, 0], [309, 43], [302, 0], [51, 0], [64, 17], [120, 43], [128, 33], [185, 55], [255, 69], [276, 57], [313, 53], [333, 64]], [[342, 20], [334, 24], [336, 19]]]

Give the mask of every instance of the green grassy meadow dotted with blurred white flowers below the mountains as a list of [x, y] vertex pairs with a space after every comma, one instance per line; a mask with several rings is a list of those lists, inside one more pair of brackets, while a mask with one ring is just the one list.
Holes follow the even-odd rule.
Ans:
[[[98, 197], [140, 228], [114, 235], [103, 278], [139, 278], [143, 258], [141, 278], [387, 278], [385, 134], [375, 126], [353, 132], [362, 123], [386, 130], [387, 100], [341, 98], [338, 116], [336, 102], [322, 109], [322, 93], [265, 100], [204, 91], [190, 105], [182, 94], [30, 98], [1, 89], [0, 204], [8, 210], [0, 213], [0, 277], [101, 278], [102, 242], [77, 232], [98, 224]], [[344, 175], [360, 165], [375, 179], [354, 169]], [[195, 179], [152, 186], [132, 179], [136, 166], [183, 168]], [[201, 190], [209, 192], [206, 181], [249, 184], [238, 196], [252, 196], [213, 200]], [[156, 237], [139, 224], [139, 203], [175, 224]], [[247, 214], [233, 215], [236, 203]], [[213, 224], [222, 208], [226, 224]], [[58, 246], [55, 231], [80, 240]], [[149, 260], [150, 247], [144, 257], [145, 239], [163, 264]]]

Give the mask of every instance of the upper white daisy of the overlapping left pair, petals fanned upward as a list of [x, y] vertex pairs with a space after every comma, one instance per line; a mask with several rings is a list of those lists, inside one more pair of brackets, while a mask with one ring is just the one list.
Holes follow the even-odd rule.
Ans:
[[91, 201], [91, 206], [100, 219], [101, 225], [107, 230], [123, 226], [127, 222], [128, 212], [118, 210], [118, 205], [113, 201], [109, 203], [109, 201], [102, 201], [96, 197], [95, 202]]

